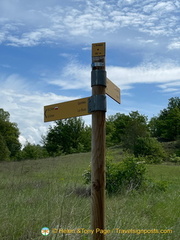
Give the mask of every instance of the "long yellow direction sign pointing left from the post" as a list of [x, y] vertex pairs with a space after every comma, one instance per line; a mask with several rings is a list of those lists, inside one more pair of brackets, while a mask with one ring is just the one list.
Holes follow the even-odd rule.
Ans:
[[44, 106], [44, 122], [91, 114], [88, 112], [88, 99], [89, 97]]

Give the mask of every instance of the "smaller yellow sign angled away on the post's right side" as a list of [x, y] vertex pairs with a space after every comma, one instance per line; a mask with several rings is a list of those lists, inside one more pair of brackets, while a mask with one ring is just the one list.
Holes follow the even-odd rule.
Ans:
[[116, 102], [121, 103], [120, 89], [108, 78], [106, 78], [106, 94], [112, 99], [114, 99]]

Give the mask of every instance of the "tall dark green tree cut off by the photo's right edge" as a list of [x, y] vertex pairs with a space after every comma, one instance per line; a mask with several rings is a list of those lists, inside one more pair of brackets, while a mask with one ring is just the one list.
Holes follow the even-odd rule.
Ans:
[[180, 136], [180, 98], [170, 98], [168, 107], [149, 123], [151, 135], [165, 141], [177, 140]]

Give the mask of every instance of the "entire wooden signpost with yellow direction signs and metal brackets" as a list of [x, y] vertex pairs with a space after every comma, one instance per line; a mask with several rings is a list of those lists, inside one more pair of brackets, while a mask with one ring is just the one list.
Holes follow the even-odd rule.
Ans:
[[106, 77], [106, 44], [92, 44], [92, 96], [44, 107], [44, 122], [92, 114], [91, 227], [93, 240], [105, 234], [105, 125], [106, 94], [120, 103], [120, 89]]

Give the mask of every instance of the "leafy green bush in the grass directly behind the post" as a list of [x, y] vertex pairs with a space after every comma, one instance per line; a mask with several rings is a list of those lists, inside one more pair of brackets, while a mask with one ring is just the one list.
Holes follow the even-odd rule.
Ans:
[[[168, 182], [154, 181], [146, 177], [143, 157], [133, 155], [115, 162], [111, 155], [106, 157], [106, 190], [109, 195], [138, 190], [139, 192], [166, 191]], [[91, 183], [90, 166], [83, 174], [85, 184]]]

